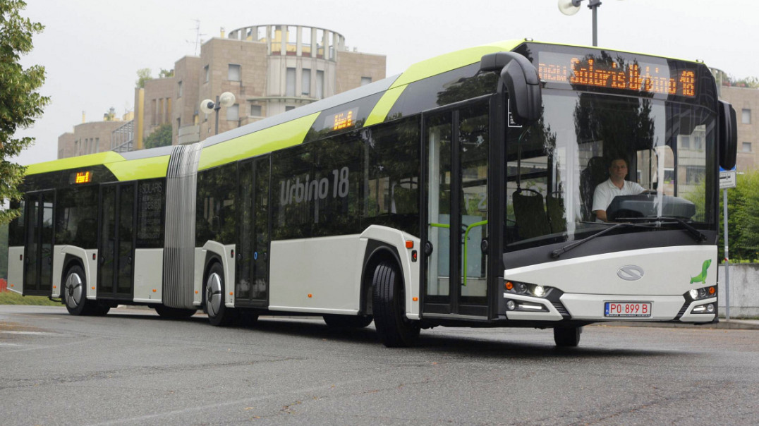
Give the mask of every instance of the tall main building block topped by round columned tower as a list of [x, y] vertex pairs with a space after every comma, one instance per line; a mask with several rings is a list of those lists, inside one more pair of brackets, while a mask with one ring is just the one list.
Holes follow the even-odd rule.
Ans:
[[203, 99], [235, 95], [235, 105], [219, 111], [221, 133], [381, 80], [385, 68], [384, 55], [351, 52], [344, 36], [323, 28], [257, 25], [222, 33], [203, 43], [199, 58], [175, 63], [175, 143], [216, 132], [216, 115], [200, 112]]

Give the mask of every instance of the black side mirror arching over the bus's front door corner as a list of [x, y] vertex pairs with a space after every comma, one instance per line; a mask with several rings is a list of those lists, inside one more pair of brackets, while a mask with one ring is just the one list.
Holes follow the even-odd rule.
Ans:
[[509, 92], [512, 118], [520, 125], [530, 125], [540, 119], [543, 96], [540, 92], [540, 76], [532, 63], [515, 52], [497, 52], [480, 59], [480, 71], [500, 72], [503, 87]]

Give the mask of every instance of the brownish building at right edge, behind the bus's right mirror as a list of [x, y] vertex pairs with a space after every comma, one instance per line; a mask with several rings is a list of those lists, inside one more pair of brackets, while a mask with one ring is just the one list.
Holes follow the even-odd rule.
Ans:
[[732, 104], [738, 118], [739, 172], [757, 169], [759, 151], [759, 90], [748, 87], [720, 87], [720, 99]]

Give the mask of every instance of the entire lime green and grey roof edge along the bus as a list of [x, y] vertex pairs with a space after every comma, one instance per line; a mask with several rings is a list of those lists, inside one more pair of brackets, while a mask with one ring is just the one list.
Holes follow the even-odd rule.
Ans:
[[[226, 131], [203, 141], [199, 170], [209, 169], [238, 159], [269, 153], [285, 147], [302, 144], [319, 115], [331, 108], [354, 103], [359, 99], [377, 96], [363, 125], [375, 125], [386, 120], [388, 113], [409, 84], [443, 74], [457, 68], [480, 62], [483, 55], [512, 51], [523, 43], [571, 46], [562, 43], [534, 42], [531, 39], [506, 40], [483, 46], [461, 49], [417, 62], [402, 74], [367, 84], [315, 103], [274, 115], [263, 120]], [[576, 46], [601, 49], [591, 46]], [[615, 52], [624, 52], [615, 50]], [[627, 52], [633, 53], [633, 52]], [[636, 54], [638, 55], [638, 54]], [[673, 58], [669, 58], [673, 59]], [[677, 59], [681, 60], [681, 59]], [[693, 62], [693, 61], [687, 61]], [[37, 163], [27, 168], [34, 175], [58, 170], [79, 169], [88, 166], [106, 166], [119, 181], [159, 178], [165, 176], [173, 147], [159, 147], [128, 153], [95, 153]]]

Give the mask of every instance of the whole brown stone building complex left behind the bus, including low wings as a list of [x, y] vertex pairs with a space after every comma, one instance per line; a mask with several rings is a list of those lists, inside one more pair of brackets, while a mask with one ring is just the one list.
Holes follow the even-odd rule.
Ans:
[[[102, 150], [140, 149], [161, 125], [172, 125], [172, 144], [193, 144], [216, 132], [216, 114], [200, 112], [200, 101], [224, 92], [235, 104], [219, 111], [219, 133], [385, 78], [386, 57], [357, 52], [345, 37], [324, 28], [254, 25], [232, 30], [184, 56], [172, 77], [148, 80], [134, 91], [134, 121], [106, 130], [58, 138], [58, 158]], [[91, 123], [87, 123], [90, 125]], [[83, 130], [83, 129], [82, 129]], [[89, 139], [99, 142], [94, 151]]]

